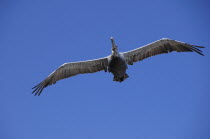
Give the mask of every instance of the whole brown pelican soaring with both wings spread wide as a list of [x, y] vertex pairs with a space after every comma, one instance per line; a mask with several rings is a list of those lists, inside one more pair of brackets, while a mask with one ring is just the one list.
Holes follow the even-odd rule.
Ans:
[[145, 58], [155, 56], [158, 54], [169, 53], [172, 51], [177, 52], [197, 52], [200, 55], [202, 51], [198, 48], [204, 48], [202, 46], [196, 46], [187, 44], [184, 42], [171, 40], [171, 39], [160, 39], [143, 47], [137, 49], [119, 53], [118, 47], [111, 37], [112, 42], [112, 54], [94, 60], [80, 61], [64, 63], [57, 70], [52, 72], [44, 81], [33, 87], [32, 89], [35, 95], [40, 95], [43, 89], [49, 85], [55, 84], [61, 79], [72, 77], [78, 74], [94, 73], [104, 70], [108, 70], [114, 75], [113, 81], [122, 82], [129, 76], [126, 74], [127, 65], [133, 65], [133, 63], [141, 61]]

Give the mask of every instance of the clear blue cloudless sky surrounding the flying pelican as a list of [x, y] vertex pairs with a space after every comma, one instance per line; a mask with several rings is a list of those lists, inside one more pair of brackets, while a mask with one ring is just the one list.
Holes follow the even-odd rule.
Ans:
[[[1, 139], [209, 139], [210, 18], [207, 0], [0, 2]], [[34, 97], [65, 62], [160, 38], [206, 46], [129, 66], [129, 78], [78, 75]]]

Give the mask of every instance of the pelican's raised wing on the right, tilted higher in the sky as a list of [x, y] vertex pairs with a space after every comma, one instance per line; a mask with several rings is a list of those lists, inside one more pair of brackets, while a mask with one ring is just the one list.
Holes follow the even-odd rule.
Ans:
[[143, 60], [145, 58], [155, 56], [158, 54], [169, 53], [172, 51], [177, 52], [197, 52], [200, 55], [202, 51], [198, 48], [204, 48], [203, 46], [195, 46], [184, 42], [161, 39], [150, 43], [146, 46], [122, 53], [129, 65], [133, 65], [134, 62]]

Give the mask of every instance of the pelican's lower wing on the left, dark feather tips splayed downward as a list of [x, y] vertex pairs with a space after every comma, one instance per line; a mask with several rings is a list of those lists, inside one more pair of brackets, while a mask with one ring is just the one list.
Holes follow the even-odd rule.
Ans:
[[32, 89], [34, 90], [32, 93], [35, 93], [35, 95], [40, 95], [45, 87], [55, 84], [61, 79], [72, 77], [77, 74], [94, 73], [101, 70], [106, 71], [107, 66], [107, 57], [96, 60], [65, 63], [61, 65], [57, 70], [52, 72], [44, 81], [33, 87]]

